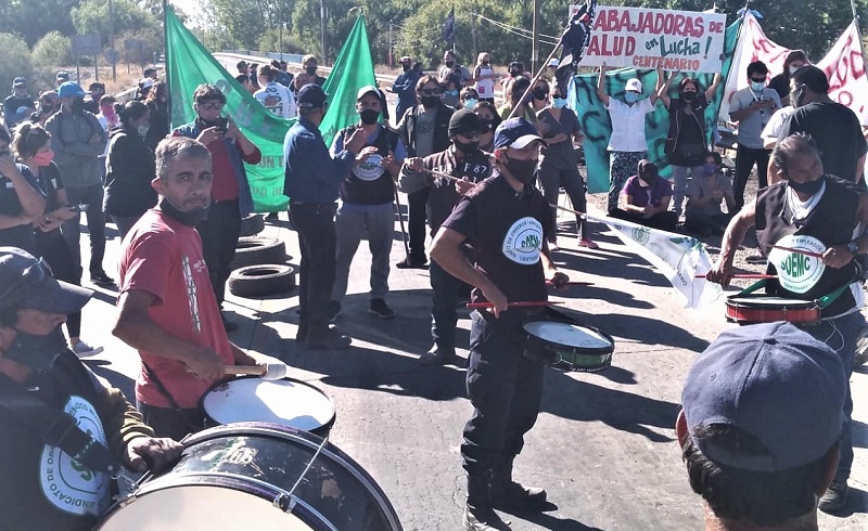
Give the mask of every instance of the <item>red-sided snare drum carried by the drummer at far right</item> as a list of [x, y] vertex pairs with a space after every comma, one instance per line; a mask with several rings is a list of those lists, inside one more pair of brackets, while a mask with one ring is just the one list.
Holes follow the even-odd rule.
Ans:
[[763, 294], [739, 294], [726, 299], [726, 320], [739, 324], [787, 321], [812, 325], [820, 322], [820, 311], [813, 300], [784, 299]]

